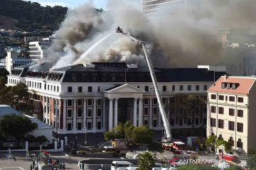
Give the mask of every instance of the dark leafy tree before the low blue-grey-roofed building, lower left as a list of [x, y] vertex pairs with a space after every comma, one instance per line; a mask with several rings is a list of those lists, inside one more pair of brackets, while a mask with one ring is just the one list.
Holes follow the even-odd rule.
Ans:
[[0, 129], [6, 136], [13, 136], [19, 142], [29, 133], [38, 127], [29, 118], [23, 115], [4, 115], [0, 120]]

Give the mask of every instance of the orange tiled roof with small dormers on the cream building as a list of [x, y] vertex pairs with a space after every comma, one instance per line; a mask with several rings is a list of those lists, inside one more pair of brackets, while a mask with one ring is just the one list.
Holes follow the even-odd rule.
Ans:
[[[215, 81], [215, 84], [210, 86], [208, 89], [209, 92], [218, 92], [218, 93], [225, 93], [225, 94], [242, 94], [247, 95], [255, 83], [256, 77], [225, 77], [222, 76], [220, 79]], [[222, 83], [225, 84], [235, 84], [235, 89], [232, 87], [230, 89], [225, 86], [222, 88]], [[232, 86], [232, 85], [231, 85]]]

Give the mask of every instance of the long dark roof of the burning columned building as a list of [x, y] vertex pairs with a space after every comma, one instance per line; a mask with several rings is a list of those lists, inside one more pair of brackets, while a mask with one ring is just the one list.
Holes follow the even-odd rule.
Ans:
[[[60, 82], [151, 82], [149, 68], [142, 65], [129, 67], [125, 62], [93, 62], [92, 64], [74, 64], [68, 67], [50, 69], [53, 63], [33, 64], [17, 67], [12, 75], [35, 77]], [[17, 72], [16, 72], [17, 70]], [[21, 71], [22, 70], [22, 71]], [[214, 81], [225, 72], [214, 72], [203, 68], [155, 68], [159, 82], [171, 81]]]

